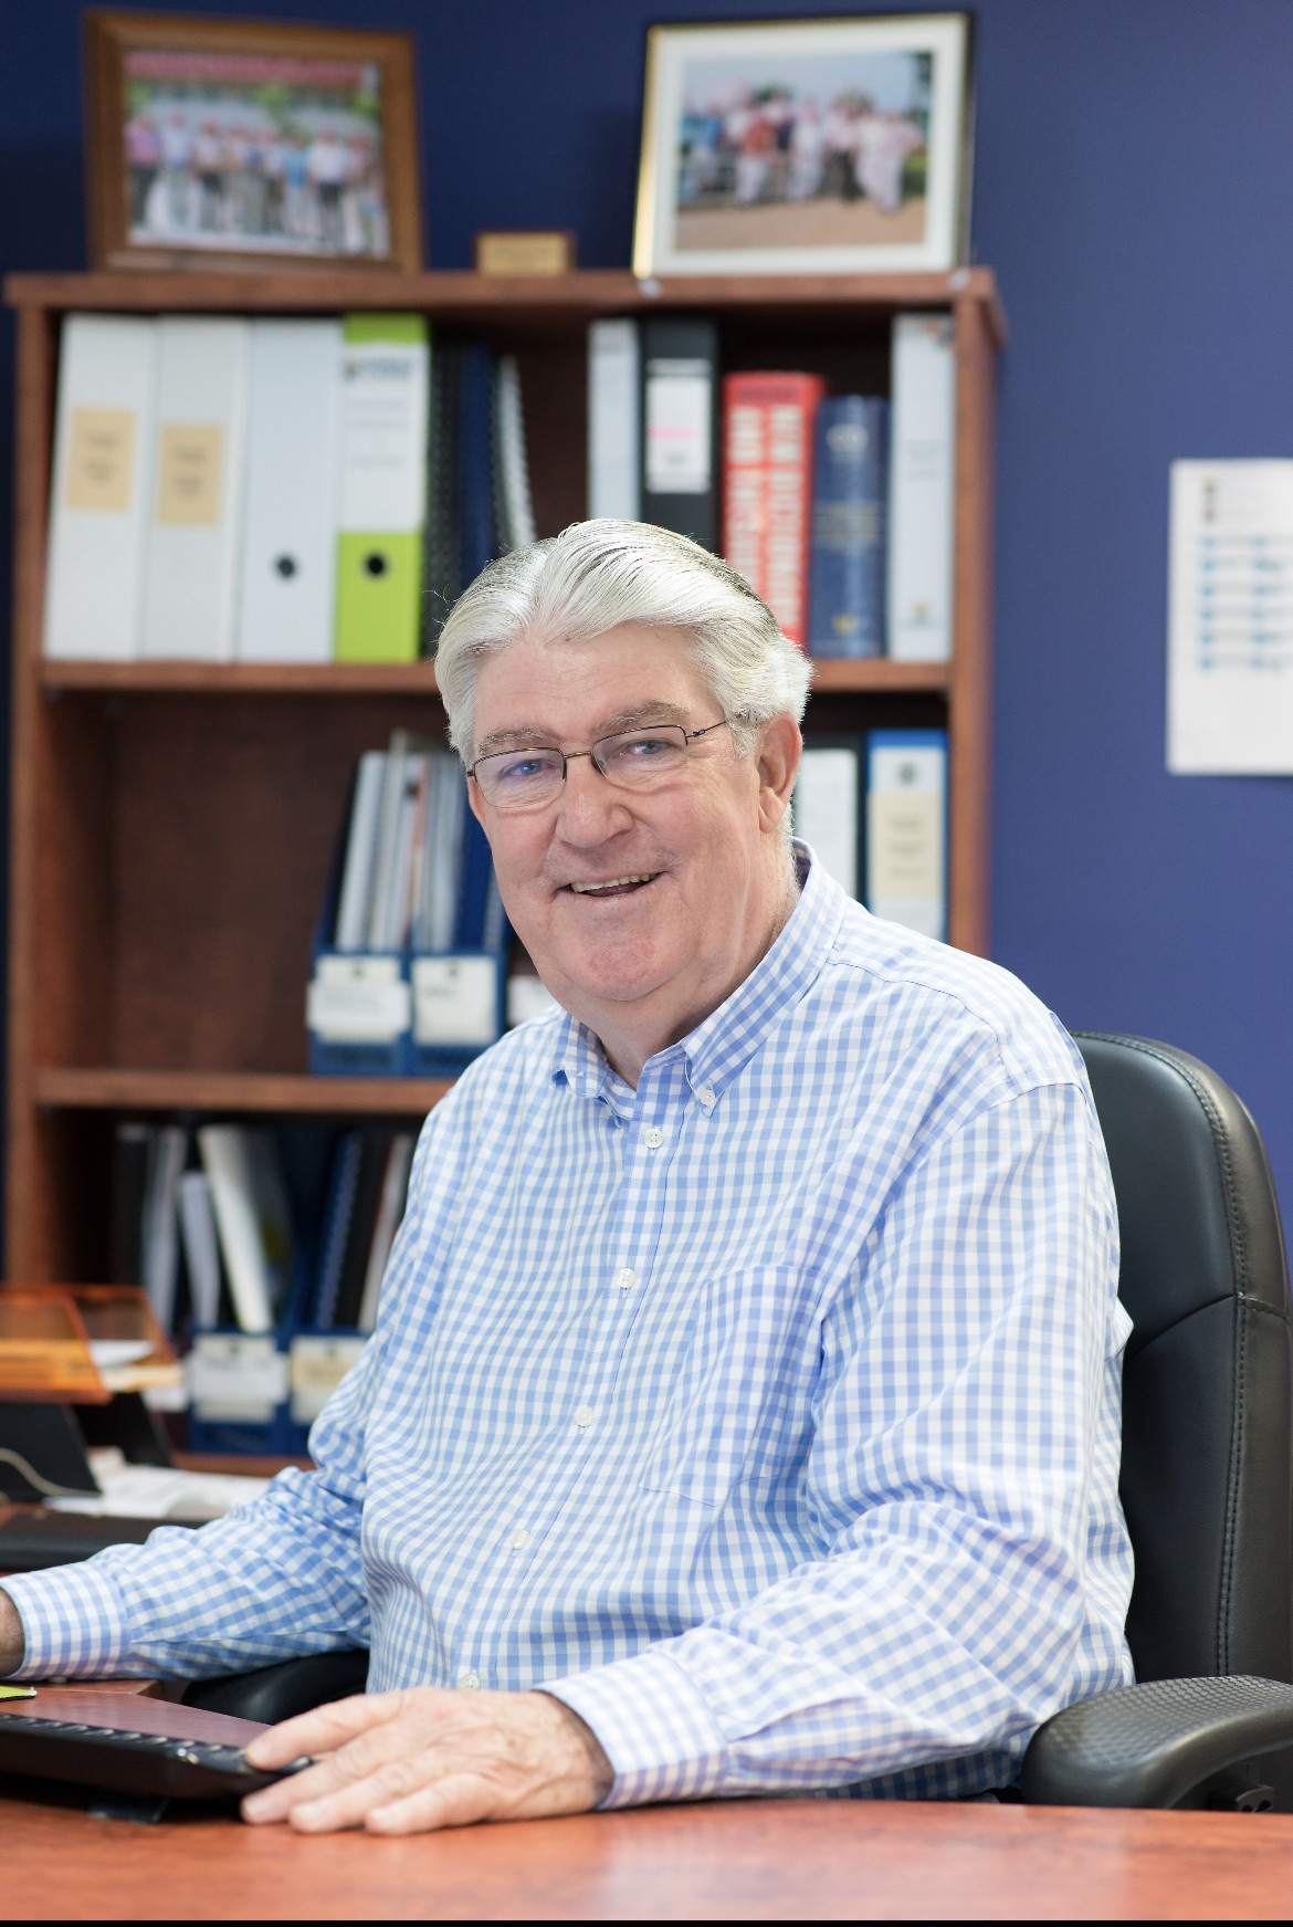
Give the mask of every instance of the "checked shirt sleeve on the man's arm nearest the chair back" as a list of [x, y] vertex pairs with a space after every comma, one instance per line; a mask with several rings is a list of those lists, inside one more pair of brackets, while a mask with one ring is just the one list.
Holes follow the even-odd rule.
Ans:
[[823, 1322], [819, 1557], [543, 1688], [607, 1752], [605, 1806], [900, 1790], [886, 1777], [994, 1752], [1008, 1777], [1042, 1719], [1125, 1682], [1116, 1642], [1102, 1676], [1077, 1678], [1093, 1466], [1118, 1453], [1116, 1281], [1112, 1183], [1077, 1085], [1008, 1098], [911, 1172]]

